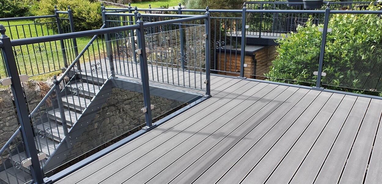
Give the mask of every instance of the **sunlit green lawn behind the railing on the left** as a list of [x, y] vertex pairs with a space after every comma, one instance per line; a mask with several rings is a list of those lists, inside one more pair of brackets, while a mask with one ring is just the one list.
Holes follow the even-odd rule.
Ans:
[[[17, 20], [17, 21], [0, 21], [6, 27], [6, 35], [11, 37], [11, 39], [20, 39], [28, 37], [46, 36], [57, 34], [55, 31], [55, 22], [44, 22], [34, 24], [33, 20]], [[52, 28], [53, 27], [53, 28]], [[91, 37], [79, 37], [76, 39], [78, 45], [78, 52], [89, 43]], [[97, 41], [95, 41], [97, 42]], [[71, 40], [65, 40], [66, 48], [72, 47], [73, 44]], [[101, 45], [93, 44], [91, 50], [100, 49], [101, 53], [104, 49]], [[61, 73], [61, 68], [64, 67], [63, 53], [61, 50], [60, 41], [53, 42], [42, 42], [39, 44], [23, 45], [13, 48], [14, 54], [16, 55], [16, 62], [18, 63], [18, 69], [20, 74], [36, 75], [31, 77], [35, 80], [46, 80], [53, 75], [58, 75]], [[71, 64], [74, 60], [73, 49], [67, 49], [68, 53], [68, 64]], [[92, 52], [92, 51], [91, 51]], [[94, 57], [92, 53], [86, 53], [83, 59], [99, 59], [100, 56]], [[42, 75], [38, 75], [41, 74]], [[0, 77], [5, 78], [5, 69], [3, 65], [3, 59], [0, 57]]]

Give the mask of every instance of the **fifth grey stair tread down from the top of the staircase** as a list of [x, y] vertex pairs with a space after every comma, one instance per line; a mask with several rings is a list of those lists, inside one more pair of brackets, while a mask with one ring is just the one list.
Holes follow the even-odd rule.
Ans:
[[[44, 122], [43, 124], [36, 126], [39, 135], [52, 138], [58, 142], [65, 137], [64, 129], [61, 124], [56, 124], [54, 122]], [[70, 129], [68, 129], [69, 132]], [[46, 133], [44, 133], [46, 132]]]

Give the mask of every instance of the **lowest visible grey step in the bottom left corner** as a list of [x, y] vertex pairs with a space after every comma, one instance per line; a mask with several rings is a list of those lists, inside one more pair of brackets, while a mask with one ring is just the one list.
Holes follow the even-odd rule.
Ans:
[[0, 183], [24, 184], [32, 180], [32, 176], [21, 169], [8, 168], [0, 172]]

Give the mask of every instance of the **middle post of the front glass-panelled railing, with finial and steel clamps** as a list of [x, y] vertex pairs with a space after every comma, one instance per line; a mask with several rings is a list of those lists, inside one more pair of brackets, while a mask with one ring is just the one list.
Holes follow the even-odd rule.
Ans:
[[135, 52], [139, 55], [139, 67], [141, 69], [141, 80], [143, 88], [143, 102], [145, 111], [142, 109], [142, 112], [145, 113], [146, 117], [146, 126], [143, 127], [143, 129], [149, 130], [152, 128], [149, 70], [147, 68], [146, 44], [144, 39], [144, 28], [143, 21], [141, 20], [141, 13], [137, 14], [137, 18], [137, 24], [139, 24], [139, 28], [137, 29], [138, 49]]

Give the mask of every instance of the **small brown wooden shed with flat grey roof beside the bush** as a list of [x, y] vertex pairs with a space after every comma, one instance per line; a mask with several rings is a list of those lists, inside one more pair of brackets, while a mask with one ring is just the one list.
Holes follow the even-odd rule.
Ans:
[[[217, 50], [219, 72], [222, 75], [237, 76], [240, 73], [241, 49], [226, 47]], [[244, 57], [244, 76], [264, 80], [264, 73], [269, 72], [272, 60], [277, 55], [276, 46], [246, 46]], [[233, 73], [235, 72], [235, 73]]]

